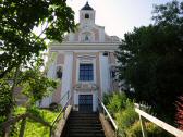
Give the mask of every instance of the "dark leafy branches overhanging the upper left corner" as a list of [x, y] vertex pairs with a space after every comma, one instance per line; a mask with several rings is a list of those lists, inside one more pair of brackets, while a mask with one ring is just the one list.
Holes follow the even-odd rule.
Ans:
[[[36, 27], [41, 28], [39, 34], [34, 33]], [[1, 0], [0, 78], [46, 50], [45, 39], [62, 41], [74, 27], [74, 12], [65, 0]]]

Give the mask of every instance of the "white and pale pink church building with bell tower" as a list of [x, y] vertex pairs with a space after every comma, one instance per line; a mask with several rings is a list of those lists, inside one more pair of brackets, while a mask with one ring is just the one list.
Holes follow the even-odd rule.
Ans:
[[61, 43], [50, 43], [53, 61], [47, 75], [59, 78], [60, 83], [57, 90], [41, 101], [41, 107], [49, 107], [52, 102], [64, 104], [66, 100], [61, 99], [70, 91], [75, 110], [96, 111], [98, 98], [118, 90], [114, 51], [120, 39], [108, 36], [103, 26], [96, 25], [95, 16], [96, 11], [86, 2], [80, 10], [76, 32], [68, 34]]

